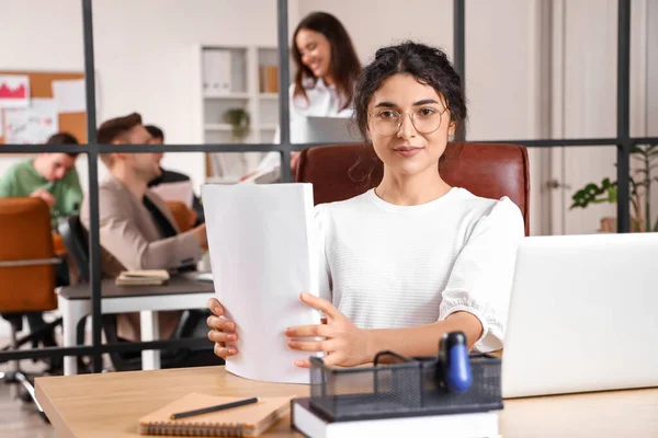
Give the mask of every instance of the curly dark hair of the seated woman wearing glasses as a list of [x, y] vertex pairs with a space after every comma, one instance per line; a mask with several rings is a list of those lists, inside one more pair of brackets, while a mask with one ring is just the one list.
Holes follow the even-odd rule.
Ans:
[[466, 123], [466, 97], [462, 78], [443, 50], [420, 43], [404, 42], [383, 47], [364, 69], [354, 93], [355, 123], [367, 141], [367, 105], [382, 83], [394, 74], [411, 74], [442, 95], [450, 111], [451, 122], [457, 126]]

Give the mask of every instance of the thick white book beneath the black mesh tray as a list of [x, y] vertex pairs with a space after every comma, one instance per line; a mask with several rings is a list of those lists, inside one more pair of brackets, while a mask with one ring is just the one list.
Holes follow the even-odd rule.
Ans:
[[384, 419], [329, 422], [310, 407], [310, 399], [292, 402], [293, 428], [313, 438], [342, 437], [498, 437], [498, 411]]

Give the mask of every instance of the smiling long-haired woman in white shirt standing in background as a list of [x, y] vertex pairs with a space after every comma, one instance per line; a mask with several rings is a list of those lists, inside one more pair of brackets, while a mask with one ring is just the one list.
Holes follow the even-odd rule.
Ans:
[[[300, 118], [352, 116], [354, 87], [362, 68], [348, 31], [326, 12], [313, 12], [299, 22], [293, 34], [291, 54], [296, 67], [288, 92], [291, 141], [298, 143], [304, 142], [295, 130]], [[276, 128], [274, 142], [280, 142], [280, 128]], [[298, 152], [292, 153], [293, 171], [297, 157]], [[279, 152], [271, 152], [259, 168], [276, 166], [279, 162]]]

